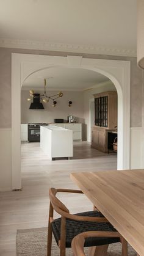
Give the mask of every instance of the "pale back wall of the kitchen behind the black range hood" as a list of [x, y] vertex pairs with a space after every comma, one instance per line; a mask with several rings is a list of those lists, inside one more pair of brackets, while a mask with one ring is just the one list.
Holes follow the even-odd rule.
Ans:
[[[35, 93], [43, 91], [35, 90]], [[54, 95], [57, 92], [48, 91], [48, 95]], [[57, 98], [56, 107], [52, 107], [52, 101], [43, 103], [45, 109], [29, 109], [31, 103], [27, 101], [29, 91], [21, 91], [21, 123], [44, 122], [51, 123], [54, 119], [67, 120], [68, 115], [74, 115], [76, 122], [84, 123], [84, 93], [83, 92], [63, 92], [62, 98]], [[72, 101], [71, 107], [68, 101]]]

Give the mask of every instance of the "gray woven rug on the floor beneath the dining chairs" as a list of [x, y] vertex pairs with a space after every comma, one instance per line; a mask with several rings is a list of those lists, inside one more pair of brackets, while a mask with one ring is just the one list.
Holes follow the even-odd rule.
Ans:
[[[46, 256], [47, 231], [46, 228], [17, 230], [16, 255], [17, 256]], [[87, 253], [87, 248], [85, 253]], [[66, 250], [67, 256], [73, 256], [70, 249]], [[131, 246], [128, 247], [128, 255], [137, 255]], [[59, 256], [59, 247], [55, 240], [52, 241], [51, 256]], [[121, 244], [110, 244], [107, 256], [121, 256]]]

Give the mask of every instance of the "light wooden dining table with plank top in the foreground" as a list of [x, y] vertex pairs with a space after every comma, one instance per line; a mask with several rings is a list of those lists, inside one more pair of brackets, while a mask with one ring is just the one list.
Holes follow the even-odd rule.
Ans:
[[123, 238], [144, 255], [144, 169], [77, 172], [71, 179]]

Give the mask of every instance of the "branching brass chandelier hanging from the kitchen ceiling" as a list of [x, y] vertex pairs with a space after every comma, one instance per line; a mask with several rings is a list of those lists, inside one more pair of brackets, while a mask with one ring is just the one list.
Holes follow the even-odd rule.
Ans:
[[34, 98], [40, 98], [40, 100], [42, 100], [44, 103], [48, 103], [49, 100], [52, 100], [52, 106], [55, 107], [57, 104], [56, 98], [61, 98], [63, 96], [62, 92], [59, 92], [57, 94], [48, 96], [46, 94], [46, 78], [44, 79], [44, 93], [41, 94], [40, 96], [35, 95], [34, 90], [30, 90], [29, 91], [29, 96], [31, 98], [27, 98], [27, 101], [32, 101]]

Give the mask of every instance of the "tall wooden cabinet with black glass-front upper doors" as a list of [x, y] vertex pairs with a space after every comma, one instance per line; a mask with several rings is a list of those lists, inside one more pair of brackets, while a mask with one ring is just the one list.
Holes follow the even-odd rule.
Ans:
[[107, 153], [107, 132], [117, 126], [117, 92], [103, 92], [95, 97], [95, 126], [92, 127], [92, 147]]

